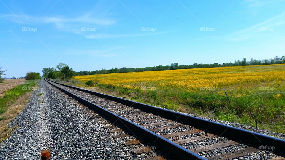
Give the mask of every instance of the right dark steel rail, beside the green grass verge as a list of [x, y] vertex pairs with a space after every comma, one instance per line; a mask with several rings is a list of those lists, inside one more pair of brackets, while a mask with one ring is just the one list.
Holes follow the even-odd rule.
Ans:
[[[47, 80], [51, 81], [51, 80]], [[171, 119], [173, 121], [180, 121], [182, 124], [193, 126], [197, 129], [207, 129], [211, 133], [219, 135], [232, 137], [232, 139], [242, 140], [243, 142], [251, 143], [253, 147], [262, 148], [262, 146], [271, 146], [274, 147], [273, 152], [277, 155], [284, 156], [285, 154], [285, 140], [271, 137], [268, 135], [263, 135], [260, 133], [248, 131], [245, 129], [240, 129], [232, 126], [228, 126], [225, 124], [209, 121], [206, 119], [189, 116], [183, 113], [179, 113], [176, 111], [170, 111], [164, 108], [154, 107], [152, 105], [147, 105], [139, 102], [135, 102], [132, 100], [126, 100], [120, 97], [115, 97], [111, 95], [106, 95], [99, 92], [94, 92], [86, 89], [81, 89], [74, 86], [69, 86], [66, 84], [61, 84], [55, 81], [51, 81], [56, 84], [60, 84], [62, 86], [66, 86], [72, 89], [77, 89], [85, 93], [89, 93], [92, 95], [96, 95], [102, 98], [106, 98], [108, 100], [112, 100], [118, 103], [122, 103], [124, 105], [132, 106], [133, 108], [138, 108], [144, 111], [148, 111], [151, 113], [155, 113], [156, 115]]]

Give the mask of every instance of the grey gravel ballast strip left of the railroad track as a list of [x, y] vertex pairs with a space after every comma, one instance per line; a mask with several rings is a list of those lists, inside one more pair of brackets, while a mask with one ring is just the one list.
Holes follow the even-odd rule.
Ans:
[[26, 108], [11, 122], [10, 127], [19, 127], [0, 145], [0, 159], [40, 159], [41, 151], [45, 149], [50, 150], [52, 159], [144, 159], [156, 156], [153, 152], [132, 154], [132, 149], [145, 146], [124, 146], [123, 143], [134, 137], [113, 139], [107, 131], [114, 128], [105, 129], [99, 124], [102, 121], [94, 122], [90, 116], [92, 111], [42, 80]]

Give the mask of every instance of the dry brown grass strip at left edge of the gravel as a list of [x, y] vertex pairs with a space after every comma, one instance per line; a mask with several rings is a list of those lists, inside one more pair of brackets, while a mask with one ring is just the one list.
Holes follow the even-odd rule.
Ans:
[[4, 119], [0, 121], [0, 143], [9, 137], [11, 132], [18, 128], [18, 126], [9, 128], [8, 124], [23, 110], [23, 108], [25, 108], [25, 105], [29, 101], [31, 95], [32, 92], [28, 92], [25, 95], [20, 96], [15, 103], [9, 106], [7, 111], [0, 115], [0, 117], [4, 116]]

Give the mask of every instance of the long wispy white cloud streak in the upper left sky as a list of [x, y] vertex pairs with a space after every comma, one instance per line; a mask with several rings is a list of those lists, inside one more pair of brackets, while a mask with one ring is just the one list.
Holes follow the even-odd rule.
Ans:
[[[0, 14], [0, 18], [4, 18], [6, 20], [10, 20], [19, 24], [29, 24], [29, 25], [40, 25], [40, 24], [53, 24], [54, 27], [60, 31], [72, 32], [81, 36], [85, 36], [88, 39], [107, 39], [107, 38], [119, 38], [119, 37], [138, 37], [138, 36], [150, 36], [150, 35], [158, 35], [167, 33], [166, 32], [142, 32], [142, 33], [133, 33], [133, 34], [108, 34], [108, 33], [100, 33], [100, 31], [96, 31], [97, 33], [86, 32], [83, 31], [82, 28], [101, 28], [108, 25], [114, 25], [116, 20], [112, 19], [96, 19], [90, 13], [75, 17], [69, 18], [61, 15], [53, 16], [53, 17], [34, 17], [25, 14]], [[139, 28], [138, 28], [139, 31]]]

